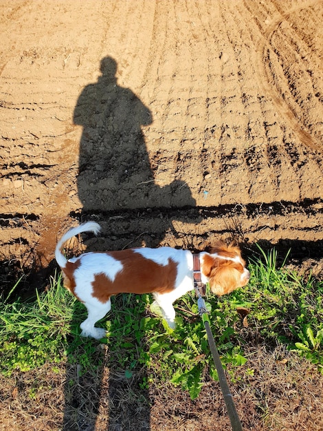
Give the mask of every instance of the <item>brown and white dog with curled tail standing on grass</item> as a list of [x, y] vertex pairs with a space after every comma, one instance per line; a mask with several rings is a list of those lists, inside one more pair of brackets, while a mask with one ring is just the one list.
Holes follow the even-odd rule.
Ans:
[[[67, 231], [58, 241], [56, 261], [63, 271], [64, 285], [85, 304], [87, 319], [82, 335], [100, 339], [105, 330], [94, 324], [111, 309], [111, 296], [118, 293], [153, 293], [170, 328], [175, 327], [176, 299], [194, 288], [193, 255], [188, 250], [159, 247], [138, 248], [105, 253], [89, 252], [67, 260], [63, 244], [78, 233], [96, 235], [100, 225], [87, 222]], [[212, 253], [199, 253], [201, 281], [209, 283], [212, 293], [224, 295], [249, 281], [250, 273], [236, 246], [217, 243]]]

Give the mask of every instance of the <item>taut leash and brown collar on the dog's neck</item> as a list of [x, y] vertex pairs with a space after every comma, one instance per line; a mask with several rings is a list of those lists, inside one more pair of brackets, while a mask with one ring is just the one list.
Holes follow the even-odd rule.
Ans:
[[216, 371], [218, 372], [219, 383], [225, 401], [225, 406], [227, 407], [227, 414], [230, 418], [231, 427], [233, 431], [243, 431], [241, 421], [238, 417], [238, 413], [236, 412], [236, 406], [234, 406], [234, 400], [230, 392], [230, 388], [227, 384], [227, 379], [225, 377], [225, 372], [223, 370], [219, 352], [216, 348], [216, 344], [210, 327], [208, 310], [206, 309], [205, 302], [202, 297], [205, 295], [205, 284], [201, 280], [201, 266], [198, 254], [193, 255], [193, 269], [194, 290], [197, 295], [197, 306], [199, 307], [199, 315], [201, 316], [202, 322], [205, 326], [206, 335], [208, 335], [208, 343], [212, 353], [214, 365], [216, 366]]

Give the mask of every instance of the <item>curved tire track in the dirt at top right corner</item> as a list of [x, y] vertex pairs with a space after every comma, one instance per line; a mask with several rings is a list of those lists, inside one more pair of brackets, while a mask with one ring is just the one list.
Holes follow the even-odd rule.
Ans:
[[[254, 13], [254, 3], [252, 4], [252, 6], [246, 1], [244, 3], [246, 8], [248, 8], [249, 12]], [[303, 41], [300, 41], [300, 38], [298, 37], [296, 32], [293, 32], [293, 34], [288, 33], [292, 30], [291, 25], [289, 24], [289, 20], [293, 17], [293, 15], [296, 15], [299, 12], [308, 13], [312, 6], [322, 4], [323, 3], [321, 1], [317, 0], [309, 1], [306, 3], [302, 3], [301, 6], [291, 8], [288, 13], [282, 12], [279, 6], [276, 6], [280, 14], [278, 17], [274, 17], [273, 19], [271, 19], [271, 22], [268, 23], [267, 28], [263, 30], [264, 39], [260, 41], [260, 44], [258, 46], [258, 71], [260, 72], [260, 76], [258, 76], [258, 81], [260, 87], [263, 87], [265, 94], [272, 98], [278, 111], [280, 112], [280, 114], [282, 114], [282, 116], [286, 118], [294, 133], [300, 139], [300, 142], [315, 151], [320, 151], [321, 153], [323, 150], [322, 127], [317, 131], [317, 133], [314, 132], [314, 138], [309, 132], [309, 129], [304, 123], [304, 120], [302, 120], [303, 114], [300, 112], [298, 102], [296, 100], [298, 96], [296, 90], [298, 88], [298, 84], [300, 87], [304, 87], [304, 75], [309, 74], [309, 67], [306, 67], [306, 57], [308, 50], [304, 48], [302, 49], [300, 46], [298, 46], [298, 50], [296, 51], [295, 45], [301, 45]], [[322, 20], [316, 17], [315, 21], [318, 22], [318, 28], [320, 28], [320, 22]], [[279, 30], [282, 26], [282, 23], [287, 24], [287, 29], [285, 28], [285, 31], [279, 35]], [[289, 40], [287, 40], [287, 35], [289, 36]], [[278, 58], [276, 58], [276, 56]], [[303, 62], [304, 65], [301, 64]], [[285, 70], [283, 72], [280, 72], [279, 69], [281, 69], [282, 67], [284, 68], [284, 65], [282, 65], [282, 63], [287, 63], [287, 65], [285, 65], [285, 69], [287, 69], [287, 71]], [[292, 67], [293, 65], [295, 65], [295, 68]], [[289, 74], [289, 76], [287, 76], [286, 79], [287, 73]], [[277, 75], [279, 74], [282, 75], [280, 79], [277, 78]], [[294, 74], [299, 74], [303, 82], [295, 82], [296, 80], [293, 79]], [[310, 83], [308, 87], [313, 87], [313, 84]], [[296, 90], [295, 96], [292, 94], [292, 88]], [[286, 92], [289, 92], [291, 96], [287, 95]], [[305, 97], [300, 99], [302, 99], [302, 102], [304, 102], [306, 101], [307, 97], [309, 96], [306, 94]], [[322, 106], [316, 103], [315, 106], [310, 107], [309, 109], [311, 109], [313, 115], [313, 110], [318, 109], [318, 112], [320, 112]], [[302, 120], [302, 126], [300, 126], [300, 120]], [[322, 125], [322, 117], [317, 118], [317, 122], [318, 121], [320, 121]], [[307, 123], [310, 124], [310, 127], [313, 126], [311, 124], [311, 120], [308, 120]], [[320, 132], [320, 134], [318, 132]]]

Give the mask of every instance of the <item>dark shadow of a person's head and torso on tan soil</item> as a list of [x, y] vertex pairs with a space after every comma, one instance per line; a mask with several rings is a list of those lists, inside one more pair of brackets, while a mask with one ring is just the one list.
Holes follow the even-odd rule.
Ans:
[[180, 180], [155, 184], [142, 126], [151, 111], [129, 88], [120, 87], [117, 63], [107, 56], [98, 82], [82, 90], [74, 123], [82, 125], [78, 196], [82, 213], [195, 206], [190, 189]]

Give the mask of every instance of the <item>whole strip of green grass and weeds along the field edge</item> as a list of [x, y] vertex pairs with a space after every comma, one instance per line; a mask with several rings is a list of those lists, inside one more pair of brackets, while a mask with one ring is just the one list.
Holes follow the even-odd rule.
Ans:
[[[278, 266], [275, 249], [269, 253], [260, 249], [260, 257], [249, 269], [252, 277], [247, 287], [225, 297], [208, 294], [206, 298], [223, 366], [230, 364], [232, 377], [234, 367], [247, 368], [244, 346], [252, 337], [273, 347], [285, 344], [322, 372], [323, 283], [300, 277], [285, 262]], [[205, 379], [217, 379], [194, 293], [177, 302], [175, 330], [168, 328], [151, 302], [149, 295], [113, 298], [113, 312], [98, 323], [108, 331], [102, 341], [109, 345], [109, 367], [129, 379], [144, 368], [143, 389], [158, 376], [188, 390], [194, 399]], [[237, 307], [249, 311], [248, 326], [246, 319], [243, 325]], [[82, 372], [98, 368], [102, 364], [98, 341], [80, 337], [79, 324], [85, 315], [85, 307], [63, 288], [59, 275], [52, 278], [47, 291], [36, 293], [30, 301], [3, 300], [1, 373], [62, 361], [78, 364]]]

